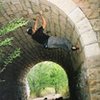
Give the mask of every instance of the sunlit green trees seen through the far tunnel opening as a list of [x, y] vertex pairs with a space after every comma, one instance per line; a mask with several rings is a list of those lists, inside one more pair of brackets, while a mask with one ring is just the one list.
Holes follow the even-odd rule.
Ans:
[[55, 91], [55, 94], [66, 95], [68, 93], [67, 75], [56, 63], [46, 61], [37, 64], [28, 73], [27, 79], [31, 96], [47, 95], [46, 92], [50, 91], [50, 89], [51, 92]]

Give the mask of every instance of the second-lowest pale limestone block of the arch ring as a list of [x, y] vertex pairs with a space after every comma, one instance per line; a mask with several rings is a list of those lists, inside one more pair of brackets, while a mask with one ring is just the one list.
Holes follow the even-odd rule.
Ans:
[[85, 32], [84, 34], [81, 34], [80, 41], [82, 42], [83, 46], [97, 42], [95, 32], [93, 32], [93, 30], [90, 30], [88, 32]]

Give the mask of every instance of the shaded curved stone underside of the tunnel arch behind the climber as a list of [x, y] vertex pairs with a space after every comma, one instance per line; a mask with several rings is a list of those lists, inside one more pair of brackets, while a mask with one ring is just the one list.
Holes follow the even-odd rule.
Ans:
[[76, 32], [76, 26], [70, 20], [70, 15], [67, 16], [57, 6], [43, 0], [12, 0], [11, 2], [4, 0], [2, 4], [3, 8], [0, 11], [1, 26], [16, 17], [24, 17], [32, 21], [32, 18], [36, 17], [36, 13], [42, 9], [48, 23], [45, 30], [49, 31], [47, 34], [66, 37], [66, 39], [69, 39], [74, 44], [79, 42], [81, 50], [69, 53], [61, 48], [44, 49], [26, 34], [27, 27], [33, 25], [33, 22], [14, 32], [10, 32], [5, 37], [14, 37], [13, 45], [4, 48], [4, 51], [8, 54], [8, 52], [13, 51], [16, 47], [21, 48], [21, 57], [17, 58], [12, 64], [9, 64], [0, 75], [0, 78], [5, 80], [5, 82], [0, 83], [0, 100], [6, 100], [7, 98], [7, 100], [18, 100], [17, 98], [19, 100], [26, 100], [24, 80], [26, 74], [35, 64], [42, 61], [53, 61], [64, 68], [68, 74], [72, 100], [75, 100], [75, 98], [76, 100], [89, 100], [88, 83], [85, 75], [86, 69], [84, 67], [86, 55], [81, 48], [84, 46], [84, 43], [82, 44], [81, 36]]

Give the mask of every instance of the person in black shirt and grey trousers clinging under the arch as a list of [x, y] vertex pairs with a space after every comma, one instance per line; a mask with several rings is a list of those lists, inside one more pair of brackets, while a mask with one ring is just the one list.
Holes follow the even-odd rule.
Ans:
[[[42, 20], [42, 25], [37, 29], [38, 21]], [[79, 47], [73, 46], [69, 40], [66, 38], [61, 38], [57, 36], [49, 36], [44, 33], [47, 23], [42, 15], [42, 11], [36, 16], [35, 24], [33, 27], [27, 29], [27, 33], [32, 37], [33, 40], [42, 44], [44, 48], [63, 48], [65, 50], [76, 51]]]

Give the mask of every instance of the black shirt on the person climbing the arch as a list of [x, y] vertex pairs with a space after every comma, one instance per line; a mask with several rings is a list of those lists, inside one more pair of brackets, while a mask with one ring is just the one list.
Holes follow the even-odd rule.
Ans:
[[46, 35], [43, 27], [41, 26], [35, 33], [33, 33], [32, 38], [39, 42], [40, 44], [45, 44], [48, 41], [49, 35]]

